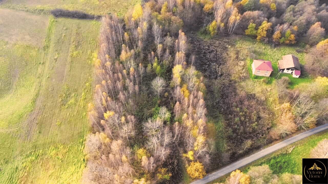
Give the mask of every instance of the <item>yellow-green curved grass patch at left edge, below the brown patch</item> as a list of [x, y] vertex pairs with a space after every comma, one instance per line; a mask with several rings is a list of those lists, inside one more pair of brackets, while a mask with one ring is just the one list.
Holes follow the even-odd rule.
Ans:
[[42, 51], [6, 41], [0, 41], [0, 47], [0, 128], [8, 128], [16, 126], [33, 109]]

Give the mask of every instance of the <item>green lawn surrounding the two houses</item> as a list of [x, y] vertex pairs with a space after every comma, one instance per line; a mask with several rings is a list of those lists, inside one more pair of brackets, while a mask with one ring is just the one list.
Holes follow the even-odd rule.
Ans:
[[[236, 40], [236, 47], [240, 49], [248, 48], [251, 52], [253, 52], [258, 58], [264, 59], [272, 62], [273, 72], [270, 77], [262, 77], [262, 76], [253, 76], [252, 74], [252, 63], [253, 60], [247, 61], [248, 63], [248, 71], [250, 73], [250, 77], [253, 80], [264, 79], [267, 78], [267, 83], [272, 83], [276, 80], [276, 76], [278, 74], [278, 60], [282, 59], [283, 55], [293, 54], [298, 57], [301, 65], [305, 64], [305, 53], [297, 52], [297, 49], [302, 50], [302, 46], [277, 46], [275, 48], [271, 47], [268, 44], [264, 44], [262, 42], [257, 42], [255, 39], [248, 37], [241, 37]], [[286, 76], [290, 79], [290, 88], [294, 88], [296, 85], [300, 83], [310, 83], [312, 82], [312, 78], [303, 70], [302, 75], [299, 78], [294, 78], [290, 74], [281, 73], [279, 75], [279, 79], [283, 76]]]

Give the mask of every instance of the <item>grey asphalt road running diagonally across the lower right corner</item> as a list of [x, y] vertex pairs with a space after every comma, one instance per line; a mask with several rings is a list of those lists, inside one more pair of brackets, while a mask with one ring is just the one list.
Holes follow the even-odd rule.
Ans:
[[302, 133], [300, 133], [296, 136], [293, 136], [291, 138], [288, 138], [286, 140], [283, 140], [283, 141], [281, 141], [281, 142], [279, 142], [279, 143], [277, 143], [273, 146], [270, 146], [268, 148], [265, 148], [265, 149], [255, 153], [251, 156], [248, 156], [248, 157], [243, 158], [241, 160], [238, 160], [238, 161], [236, 161], [236, 162], [234, 162], [234, 163], [232, 163], [232, 164], [230, 164], [230, 165], [228, 165], [224, 168], [221, 168], [221, 169], [215, 171], [212, 174], [206, 175], [202, 179], [196, 180], [196, 181], [194, 181], [190, 184], [206, 184], [208, 182], [211, 182], [211, 181], [213, 181], [213, 180], [215, 180], [215, 179], [217, 179], [217, 178], [219, 178], [223, 175], [231, 173], [232, 171], [235, 171], [236, 169], [241, 168], [241, 167], [243, 167], [243, 166], [245, 166], [245, 165], [247, 165], [247, 164], [249, 164], [249, 163], [251, 163], [251, 162], [253, 162], [253, 161], [255, 161], [255, 160], [257, 160], [261, 157], [263, 157], [263, 156], [271, 154], [271, 153], [277, 151], [278, 149], [281, 149], [281, 148], [283, 148], [283, 147], [285, 147], [289, 144], [292, 144], [292, 143], [294, 143], [298, 140], [301, 140], [303, 138], [306, 138], [308, 136], [311, 136], [313, 134], [316, 134], [316, 133], [321, 132], [321, 131], [326, 130], [326, 129], [328, 129], [328, 123], [324, 124], [324, 125], [321, 125], [321, 126], [318, 126], [316, 128], [313, 128], [311, 130], [302, 132]]

